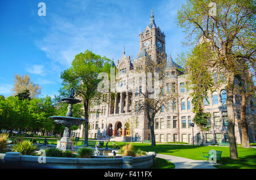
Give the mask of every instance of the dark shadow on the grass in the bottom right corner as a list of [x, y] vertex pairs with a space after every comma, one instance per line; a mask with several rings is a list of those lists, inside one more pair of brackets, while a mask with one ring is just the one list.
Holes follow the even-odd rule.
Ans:
[[215, 166], [219, 169], [256, 169], [256, 155], [239, 157], [238, 159], [221, 157], [221, 160], [217, 162], [222, 164], [220, 166]]

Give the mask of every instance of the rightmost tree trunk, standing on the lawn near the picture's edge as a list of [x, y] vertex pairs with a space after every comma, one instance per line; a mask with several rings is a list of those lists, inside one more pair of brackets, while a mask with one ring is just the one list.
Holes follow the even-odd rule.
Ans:
[[246, 116], [245, 116], [245, 109], [246, 109], [246, 97], [245, 97], [245, 95], [242, 95], [242, 102], [241, 102], [242, 147], [250, 148]]

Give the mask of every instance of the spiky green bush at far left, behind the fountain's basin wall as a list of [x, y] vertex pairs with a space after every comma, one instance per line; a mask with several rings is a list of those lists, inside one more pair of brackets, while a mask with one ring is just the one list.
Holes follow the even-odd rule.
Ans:
[[36, 145], [33, 145], [32, 142], [24, 140], [13, 145], [13, 151], [19, 152], [21, 155], [33, 155], [36, 149]]

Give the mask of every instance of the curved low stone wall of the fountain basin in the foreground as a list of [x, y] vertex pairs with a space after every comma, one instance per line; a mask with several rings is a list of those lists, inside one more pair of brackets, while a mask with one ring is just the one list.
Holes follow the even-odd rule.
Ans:
[[7, 152], [0, 153], [0, 162], [22, 168], [148, 169], [156, 162], [155, 156], [155, 152], [149, 152], [141, 157], [69, 158], [26, 156], [19, 152]]

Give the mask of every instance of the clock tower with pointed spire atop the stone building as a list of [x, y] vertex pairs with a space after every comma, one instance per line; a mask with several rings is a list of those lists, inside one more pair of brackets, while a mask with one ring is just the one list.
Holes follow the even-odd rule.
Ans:
[[159, 54], [166, 54], [166, 36], [159, 27], [156, 27], [153, 10], [151, 10], [150, 23], [144, 32], [141, 32], [139, 38], [138, 57], [141, 57], [142, 53], [147, 53], [152, 60], [156, 61]]

